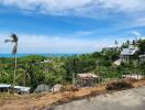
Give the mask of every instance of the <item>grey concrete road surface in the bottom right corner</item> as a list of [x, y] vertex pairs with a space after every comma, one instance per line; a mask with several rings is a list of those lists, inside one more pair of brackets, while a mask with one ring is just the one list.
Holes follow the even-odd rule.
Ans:
[[44, 110], [145, 110], [145, 87], [76, 100]]

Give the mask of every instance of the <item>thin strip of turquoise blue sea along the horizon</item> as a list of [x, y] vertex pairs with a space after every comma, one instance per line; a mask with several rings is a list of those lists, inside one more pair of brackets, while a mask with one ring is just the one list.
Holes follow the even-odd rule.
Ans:
[[[45, 57], [62, 57], [62, 56], [75, 56], [80, 54], [16, 54], [16, 57], [24, 57], [30, 55], [38, 55], [38, 56], [45, 56]], [[12, 54], [0, 54], [0, 57], [14, 57]]]

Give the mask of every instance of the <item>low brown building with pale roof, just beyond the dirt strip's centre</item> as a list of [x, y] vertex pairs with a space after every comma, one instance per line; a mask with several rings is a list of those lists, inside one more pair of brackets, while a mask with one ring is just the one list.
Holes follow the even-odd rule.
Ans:
[[77, 82], [80, 87], [91, 87], [97, 84], [99, 76], [94, 74], [77, 74]]

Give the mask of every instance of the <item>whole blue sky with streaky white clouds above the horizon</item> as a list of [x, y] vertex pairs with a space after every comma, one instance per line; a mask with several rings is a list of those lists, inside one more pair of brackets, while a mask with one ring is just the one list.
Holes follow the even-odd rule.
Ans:
[[0, 0], [0, 53], [92, 53], [145, 36], [145, 0]]

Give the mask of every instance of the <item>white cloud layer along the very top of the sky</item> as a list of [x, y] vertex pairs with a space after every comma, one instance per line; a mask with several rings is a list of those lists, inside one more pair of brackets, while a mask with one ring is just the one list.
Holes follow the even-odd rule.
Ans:
[[[107, 10], [134, 12], [145, 10], [145, 0], [0, 0], [5, 7], [18, 7], [22, 11], [36, 10], [45, 14], [102, 14]], [[101, 10], [101, 11], [100, 11]]]

